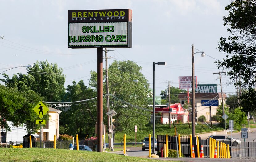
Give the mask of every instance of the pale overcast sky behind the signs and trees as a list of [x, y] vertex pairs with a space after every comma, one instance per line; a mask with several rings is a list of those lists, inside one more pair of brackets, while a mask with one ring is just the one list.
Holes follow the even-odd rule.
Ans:
[[[155, 67], [156, 95], [168, 86], [178, 87], [179, 76], [191, 76], [191, 45], [209, 56], [195, 54], [195, 76], [199, 84], [219, 84], [216, 59], [225, 54], [216, 47], [223, 26], [224, 7], [230, 0], [0, 0], [0, 72], [48, 60], [63, 68], [67, 85], [83, 79], [88, 85], [90, 71], [97, 71], [97, 49], [68, 48], [68, 10], [131, 9], [132, 48], [115, 48], [108, 55], [114, 60], [132, 60], [153, 83], [153, 61], [167, 62]], [[195, 52], [200, 52], [195, 49]], [[105, 62], [104, 65], [105, 67]], [[26, 73], [26, 68], [6, 71]], [[0, 76], [2, 78], [2, 75]], [[136, 79], [136, 78], [134, 78]], [[234, 93], [229, 78], [222, 75], [223, 91]], [[217, 91], [220, 92], [220, 85]], [[191, 90], [191, 89], [190, 89]]]

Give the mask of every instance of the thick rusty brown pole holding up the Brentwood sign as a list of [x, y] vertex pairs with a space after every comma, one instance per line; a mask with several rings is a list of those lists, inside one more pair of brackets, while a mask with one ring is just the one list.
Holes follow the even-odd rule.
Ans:
[[103, 48], [97, 48], [97, 152], [102, 152], [103, 134]]

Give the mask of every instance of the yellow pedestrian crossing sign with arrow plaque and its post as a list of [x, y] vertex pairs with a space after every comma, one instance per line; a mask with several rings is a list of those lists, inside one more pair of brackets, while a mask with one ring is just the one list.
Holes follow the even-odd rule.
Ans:
[[36, 113], [36, 115], [40, 119], [36, 119], [35, 124], [40, 124], [40, 148], [42, 148], [42, 124], [46, 124], [46, 119], [42, 119], [42, 117], [47, 114], [49, 111], [49, 108], [42, 102], [40, 101], [33, 109], [33, 111]]

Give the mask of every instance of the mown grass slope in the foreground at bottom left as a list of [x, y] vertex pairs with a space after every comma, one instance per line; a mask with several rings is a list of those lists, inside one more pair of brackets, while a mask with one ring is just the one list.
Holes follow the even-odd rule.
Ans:
[[147, 158], [138, 158], [123, 156], [112, 153], [99, 153], [88, 151], [52, 149], [52, 148], [0, 148], [0, 162], [6, 161], [33, 161], [33, 162], [51, 162], [51, 161], [142, 161], [142, 162], [160, 162], [160, 160], [151, 160]]

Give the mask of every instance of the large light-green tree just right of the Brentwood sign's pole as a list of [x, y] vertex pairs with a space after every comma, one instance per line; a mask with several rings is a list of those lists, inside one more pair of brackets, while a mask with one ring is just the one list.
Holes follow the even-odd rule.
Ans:
[[[142, 67], [133, 61], [114, 61], [109, 66], [110, 109], [118, 113], [114, 116], [116, 130], [133, 131], [134, 125], [144, 128], [149, 123], [152, 110], [147, 106], [152, 102], [148, 81], [141, 70]], [[136, 79], [138, 83], [133, 81]], [[96, 89], [96, 72], [91, 72], [89, 83]], [[105, 82], [103, 88], [105, 91]]]

